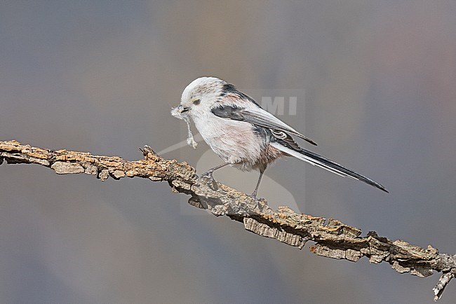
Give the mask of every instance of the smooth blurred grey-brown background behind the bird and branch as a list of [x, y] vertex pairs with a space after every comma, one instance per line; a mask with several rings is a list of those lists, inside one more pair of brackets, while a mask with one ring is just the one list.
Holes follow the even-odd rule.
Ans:
[[[391, 192], [290, 159], [266, 172], [271, 205], [455, 254], [455, 15], [451, 0], [1, 1], [0, 140], [128, 160], [149, 144], [202, 172], [220, 160], [169, 149], [187, 137], [169, 111], [217, 76], [297, 97], [279, 118]], [[250, 193], [257, 173], [215, 177]], [[0, 193], [1, 303], [430, 303], [439, 277], [253, 235], [166, 183], [4, 164]]]

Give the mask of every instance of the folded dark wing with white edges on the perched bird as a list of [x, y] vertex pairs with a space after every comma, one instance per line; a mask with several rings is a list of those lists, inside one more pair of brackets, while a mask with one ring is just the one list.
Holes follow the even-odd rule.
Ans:
[[295, 129], [293, 129], [293, 127], [290, 127], [286, 123], [283, 123], [282, 120], [276, 118], [276, 116], [272, 115], [271, 113], [264, 111], [260, 107], [245, 109], [238, 108], [236, 106], [217, 106], [211, 111], [215, 116], [245, 121], [246, 123], [252, 123], [253, 125], [266, 127], [267, 129], [271, 130], [274, 137], [278, 139], [283, 139], [287, 142], [290, 141], [289, 139], [291, 139], [291, 141], [294, 143], [293, 145], [290, 142], [292, 146], [297, 146], [297, 144], [289, 134], [296, 135], [297, 137], [300, 137], [305, 141], [309, 141], [309, 143], [316, 146], [316, 143], [313, 140], [305, 137], [300, 132], [297, 132]]

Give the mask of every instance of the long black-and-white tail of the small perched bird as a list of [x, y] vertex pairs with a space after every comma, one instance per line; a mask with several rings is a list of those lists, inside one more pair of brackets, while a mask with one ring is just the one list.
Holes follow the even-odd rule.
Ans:
[[303, 148], [301, 148], [300, 151], [295, 151], [291, 148], [287, 148], [286, 146], [279, 144], [278, 142], [272, 142], [271, 146], [274, 146], [274, 148], [278, 148], [282, 152], [290, 154], [290, 156], [294, 156], [295, 158], [304, 160], [304, 162], [310, 163], [311, 165], [322, 167], [323, 169], [340, 175], [341, 177], [351, 177], [352, 179], [358, 179], [358, 181], [364, 181], [366, 184], [369, 184], [370, 186], [374, 186], [384, 192], [389, 193], [387, 189], [384, 188], [384, 186], [378, 184], [376, 181], [373, 181], [368, 177], [363, 177], [363, 175], [351, 171], [346, 167], [342, 167], [338, 163], [333, 162], [333, 160], [328, 160], [328, 158], [324, 158], [323, 156], [320, 156], [314, 152], [305, 150]]

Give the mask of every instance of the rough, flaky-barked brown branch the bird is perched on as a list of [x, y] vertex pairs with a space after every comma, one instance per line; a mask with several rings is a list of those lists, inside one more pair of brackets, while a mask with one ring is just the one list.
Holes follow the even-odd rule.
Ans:
[[142, 177], [151, 181], [168, 181], [176, 193], [191, 195], [189, 204], [207, 209], [215, 216], [243, 223], [246, 230], [271, 237], [302, 249], [307, 241], [314, 242], [310, 251], [328, 258], [358, 261], [366, 256], [370, 263], [383, 261], [398, 272], [428, 277], [433, 271], [443, 272], [434, 288], [435, 298], [441, 297], [445, 286], [456, 276], [456, 254], [441, 254], [430, 245], [427, 249], [403, 240], [392, 241], [370, 231], [361, 237], [361, 230], [335, 219], [296, 214], [288, 207], [274, 211], [267, 201], [253, 200], [246, 193], [218, 182], [199, 178], [187, 163], [166, 160], [145, 146], [145, 160], [128, 161], [116, 156], [93, 156], [86, 152], [52, 150], [22, 145], [18, 141], [0, 141], [0, 165], [38, 164], [50, 167], [57, 174], [86, 173], [104, 181], [112, 177]]

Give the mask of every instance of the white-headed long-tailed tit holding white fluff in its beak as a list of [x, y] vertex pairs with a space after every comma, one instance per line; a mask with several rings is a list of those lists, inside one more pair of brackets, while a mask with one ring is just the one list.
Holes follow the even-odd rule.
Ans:
[[260, 171], [260, 178], [252, 193], [254, 198], [267, 165], [283, 156], [294, 156], [342, 177], [358, 179], [388, 192], [372, 179], [301, 148], [292, 136], [316, 144], [264, 111], [254, 99], [237, 90], [234, 85], [219, 78], [201, 77], [192, 81], [182, 92], [180, 105], [171, 113], [185, 119], [187, 124], [191, 118], [204, 141], [224, 160], [222, 165], [203, 174], [210, 180], [213, 181], [215, 170], [226, 165], [243, 171]]

